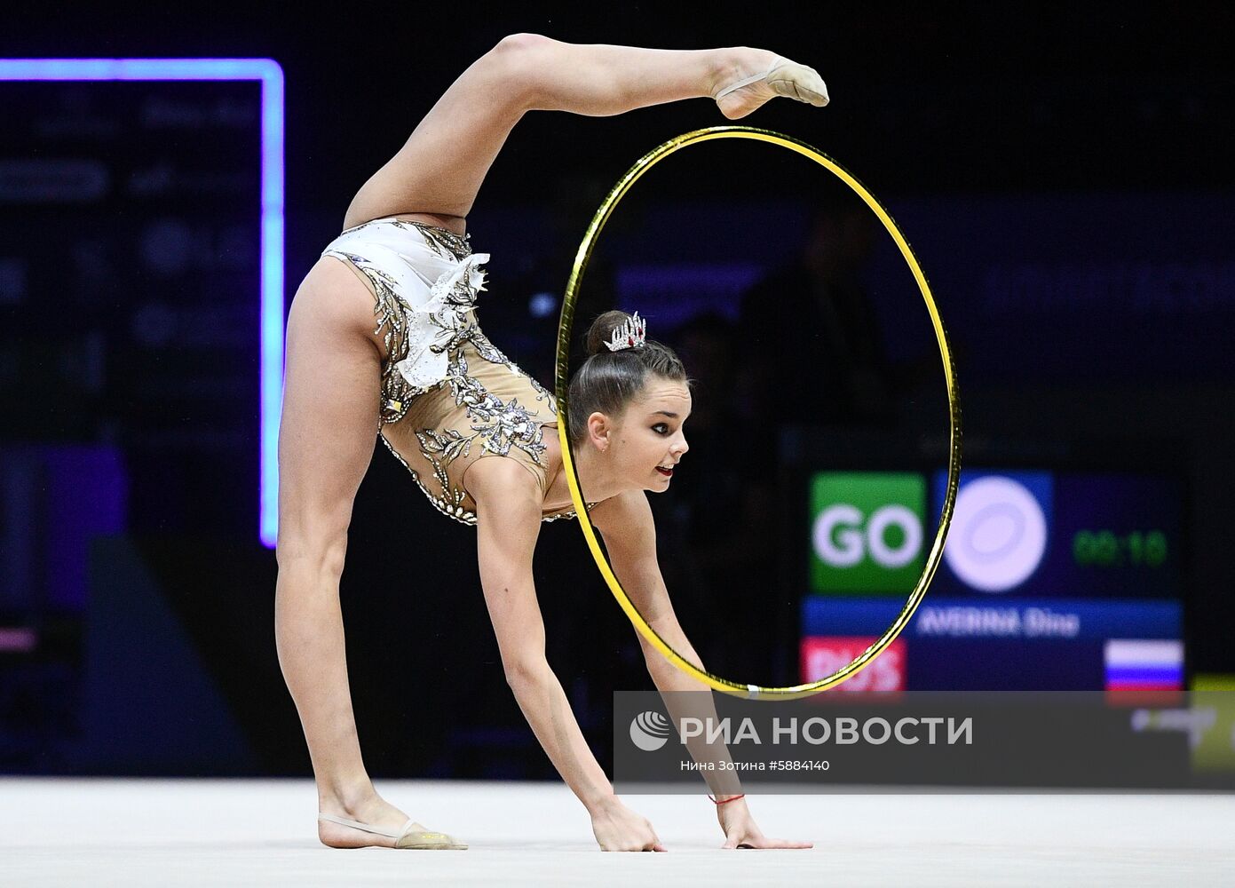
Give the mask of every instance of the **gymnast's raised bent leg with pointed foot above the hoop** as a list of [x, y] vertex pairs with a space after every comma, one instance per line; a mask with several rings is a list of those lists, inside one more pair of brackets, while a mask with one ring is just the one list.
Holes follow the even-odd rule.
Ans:
[[562, 43], [513, 35], [474, 62], [433, 105], [406, 145], [352, 201], [345, 227], [391, 214], [422, 214], [462, 232], [480, 183], [510, 130], [534, 110], [611, 116], [679, 99], [711, 98], [777, 65], [762, 79], [729, 91], [719, 109], [745, 117], [776, 95], [827, 103], [814, 69], [781, 64], [750, 47], [643, 49]]

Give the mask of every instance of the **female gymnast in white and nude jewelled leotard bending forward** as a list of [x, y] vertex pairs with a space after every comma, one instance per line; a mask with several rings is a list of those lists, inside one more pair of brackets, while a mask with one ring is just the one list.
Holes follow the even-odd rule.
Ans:
[[[557, 408], [477, 326], [479, 266], [489, 257], [472, 252], [464, 220], [527, 111], [601, 116], [709, 98], [736, 120], [778, 95], [827, 103], [814, 69], [763, 49], [505, 37], [364, 183], [345, 231], [305, 275], [287, 330], [275, 635], [312, 761], [322, 844], [467, 847], [378, 795], [361, 757], [338, 583], [377, 432], [433, 506], [477, 527], [480, 580], [506, 682], [587, 808], [600, 848], [664, 850], [652, 825], [614, 794], [545, 658], [532, 551], [541, 521], [574, 516]], [[657, 567], [645, 493], [667, 490], [687, 453], [689, 380], [677, 356], [646, 332], [637, 314], [610, 311], [592, 325], [589, 357], [569, 384], [568, 436], [614, 572], [656, 632], [699, 664]], [[492, 458], [499, 456], [506, 458]], [[640, 642], [662, 693], [700, 689], [642, 636]], [[810, 846], [764, 836], [740, 793], [714, 802], [724, 847]]]

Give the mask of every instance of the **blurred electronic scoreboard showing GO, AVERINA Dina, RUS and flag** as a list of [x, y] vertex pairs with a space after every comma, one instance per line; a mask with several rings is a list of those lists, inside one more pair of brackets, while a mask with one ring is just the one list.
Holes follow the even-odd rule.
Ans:
[[[800, 678], [878, 639], [925, 566], [947, 474], [805, 475]], [[1135, 471], [961, 473], [913, 620], [839, 693], [1182, 690], [1182, 484]]]

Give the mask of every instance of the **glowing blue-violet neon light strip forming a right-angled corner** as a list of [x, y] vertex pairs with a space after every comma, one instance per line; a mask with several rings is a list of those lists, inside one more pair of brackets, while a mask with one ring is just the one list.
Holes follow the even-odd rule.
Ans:
[[269, 58], [5, 58], [0, 80], [259, 80], [262, 84], [261, 483], [258, 535], [278, 534], [283, 405], [283, 68]]

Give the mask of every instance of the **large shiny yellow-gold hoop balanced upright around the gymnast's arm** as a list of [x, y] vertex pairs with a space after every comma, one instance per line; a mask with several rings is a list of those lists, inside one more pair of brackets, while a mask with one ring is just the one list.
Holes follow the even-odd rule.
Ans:
[[[879, 217], [881, 222], [883, 222], [883, 227], [887, 228], [889, 235], [892, 235], [892, 240], [895, 241], [897, 247], [900, 248], [900, 254], [909, 264], [909, 269], [913, 272], [914, 279], [918, 282], [918, 289], [921, 291], [923, 299], [926, 301], [926, 310], [930, 312], [931, 322], [935, 326], [935, 337], [939, 342], [940, 357], [944, 359], [944, 378], [947, 383], [947, 406], [950, 420], [947, 492], [944, 496], [944, 509], [940, 513], [939, 531], [935, 534], [935, 542], [926, 558], [926, 566], [923, 568], [923, 573], [918, 578], [918, 584], [910, 593], [909, 599], [905, 601], [905, 606], [900, 610], [900, 614], [895, 620], [893, 620], [892, 625], [888, 626], [888, 630], [873, 645], [866, 648], [866, 651], [855, 657], [847, 666], [837, 669], [826, 678], [820, 678], [816, 682], [810, 682], [809, 684], [795, 684], [787, 688], [763, 688], [757, 684], [743, 684], [714, 676], [710, 672], [705, 672], [678, 655], [677, 651], [669, 647], [664, 640], [661, 639], [661, 636], [657, 635], [650, 625], [647, 625], [647, 621], [643, 620], [643, 616], [626, 595], [621, 583], [618, 582], [618, 577], [614, 576], [613, 568], [609, 566], [609, 561], [605, 558], [604, 552], [597, 542], [595, 529], [592, 526], [588, 506], [587, 503], [584, 503], [583, 494], [579, 489], [579, 477], [574, 466], [574, 457], [571, 451], [568, 435], [569, 404], [567, 400], [567, 390], [569, 385], [568, 363], [571, 356], [571, 327], [574, 321], [574, 303], [578, 299], [579, 287], [583, 283], [583, 272], [588, 266], [588, 261], [592, 258], [592, 251], [595, 248], [597, 238], [600, 236], [600, 231], [604, 228], [605, 222], [609, 220], [609, 216], [613, 215], [614, 209], [621, 201], [622, 196], [625, 196], [626, 191], [629, 191], [630, 188], [638, 182], [643, 173], [669, 154], [680, 151], [689, 145], [709, 142], [714, 138], [751, 138], [760, 142], [778, 145], [783, 148], [789, 148], [790, 151], [808, 157], [825, 169], [830, 170], [839, 179], [841, 179], [841, 182], [848, 185], [860, 198], [862, 198], [863, 201], [866, 201], [866, 205], [874, 211], [874, 215]], [[583, 536], [588, 541], [588, 547], [592, 550], [592, 556], [595, 558], [601, 576], [609, 584], [609, 589], [613, 592], [614, 598], [618, 599], [618, 604], [621, 605], [624, 611], [626, 611], [626, 616], [630, 618], [630, 621], [635, 624], [635, 629], [637, 629], [653, 647], [663, 653], [671, 663], [708, 687], [735, 697], [781, 700], [809, 697], [819, 693], [820, 690], [825, 690], [826, 688], [831, 688], [848, 678], [852, 678], [869, 666], [905, 627], [909, 622], [909, 618], [914, 615], [914, 611], [921, 603], [923, 597], [926, 594], [926, 587], [930, 585], [931, 579], [935, 577], [935, 571], [939, 568], [939, 562], [944, 556], [944, 541], [947, 537], [947, 529], [952, 521], [952, 509], [956, 505], [957, 480], [961, 472], [961, 404], [956, 389], [956, 366], [952, 361], [952, 351], [947, 345], [947, 333], [944, 330], [944, 321], [939, 316], [939, 309], [935, 305], [934, 296], [931, 296], [930, 285], [926, 283], [926, 275], [923, 274], [921, 267], [918, 264], [918, 259], [909, 248], [909, 243], [905, 241], [904, 235], [900, 233], [900, 228], [898, 228], [897, 224], [892, 221], [892, 216], [888, 215], [888, 211], [884, 210], [883, 206], [879, 205], [873, 196], [871, 196], [871, 193], [867, 191], [866, 188], [846, 169], [805, 142], [771, 130], [756, 130], [753, 127], [745, 126], [713, 126], [705, 130], [694, 130], [692, 132], [676, 136], [668, 142], [657, 146], [641, 157], [635, 165], [618, 180], [618, 184], [614, 185], [613, 190], [600, 204], [600, 209], [597, 210], [595, 216], [592, 217], [592, 224], [588, 226], [587, 233], [583, 236], [583, 242], [579, 243], [579, 251], [574, 256], [574, 267], [571, 269], [571, 279], [566, 285], [566, 296], [562, 303], [562, 317], [557, 330], [555, 394], [557, 396], [558, 405], [558, 438], [562, 442], [562, 462], [566, 471], [567, 483], [571, 488], [571, 498], [574, 500], [574, 510], [579, 520], [579, 526], [583, 529]]]

